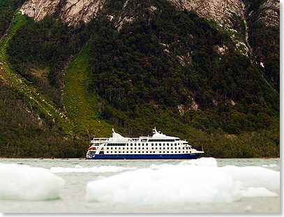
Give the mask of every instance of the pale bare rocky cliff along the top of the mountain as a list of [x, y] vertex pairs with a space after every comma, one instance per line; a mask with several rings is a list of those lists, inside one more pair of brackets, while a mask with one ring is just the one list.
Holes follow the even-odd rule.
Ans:
[[[237, 49], [247, 57], [251, 55], [251, 46], [248, 43], [248, 22], [251, 17], [259, 20], [267, 26], [279, 27], [280, 23], [280, 1], [267, 0], [260, 4], [260, 13], [250, 9], [251, 3], [244, 0], [168, 0], [180, 10], [195, 12], [197, 15], [213, 20], [219, 27], [231, 34]], [[124, 9], [128, 1], [124, 3]], [[26, 1], [20, 9], [23, 14], [34, 17], [36, 21], [42, 20], [46, 15], [52, 15], [59, 10], [60, 17], [70, 25], [79, 22], [89, 22], [103, 9], [105, 0], [68, 0], [61, 3], [60, 0], [30, 0]], [[155, 6], [153, 6], [155, 8]], [[151, 10], [153, 9], [151, 8]], [[113, 15], [107, 15], [110, 20]], [[124, 22], [131, 22], [134, 18], [124, 14], [117, 20], [117, 29]], [[239, 24], [236, 26], [236, 20]], [[236, 28], [237, 27], [237, 28]], [[240, 28], [244, 28], [241, 32]], [[224, 47], [219, 47], [225, 49]]]

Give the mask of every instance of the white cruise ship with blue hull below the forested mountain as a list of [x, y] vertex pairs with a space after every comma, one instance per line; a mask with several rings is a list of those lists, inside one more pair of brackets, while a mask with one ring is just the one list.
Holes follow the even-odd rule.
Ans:
[[153, 130], [152, 136], [130, 138], [112, 129], [112, 137], [91, 140], [86, 159], [196, 159], [204, 153], [186, 140]]

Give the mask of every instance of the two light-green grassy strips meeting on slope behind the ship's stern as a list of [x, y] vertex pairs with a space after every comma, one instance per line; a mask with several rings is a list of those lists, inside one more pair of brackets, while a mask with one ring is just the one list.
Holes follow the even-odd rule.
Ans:
[[33, 84], [13, 71], [7, 61], [6, 47], [24, 22], [24, 16], [21, 13], [16, 13], [8, 34], [0, 41], [0, 79], [10, 87], [24, 93], [41, 112], [59, 121], [59, 126], [65, 129], [66, 135], [110, 136], [112, 126], [101, 121], [98, 117], [97, 96], [87, 93], [86, 89], [89, 71], [88, 45], [71, 61], [66, 70], [63, 94], [66, 116], [52, 105], [45, 93], [39, 92]]

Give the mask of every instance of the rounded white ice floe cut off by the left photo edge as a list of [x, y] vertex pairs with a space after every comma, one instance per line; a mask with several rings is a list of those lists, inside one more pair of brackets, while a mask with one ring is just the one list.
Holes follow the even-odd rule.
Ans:
[[0, 200], [54, 200], [64, 184], [44, 168], [0, 163]]

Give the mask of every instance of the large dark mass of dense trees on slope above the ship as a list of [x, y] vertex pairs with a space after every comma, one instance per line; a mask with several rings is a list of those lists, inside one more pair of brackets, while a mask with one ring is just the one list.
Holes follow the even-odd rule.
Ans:
[[[92, 86], [107, 102], [101, 117], [132, 128], [137, 107], [141, 112], [149, 104], [156, 112], [170, 108], [179, 114], [177, 106], [185, 105], [185, 123], [208, 133], [221, 128], [239, 134], [271, 126], [272, 113], [279, 110], [266, 94], [275, 94], [250, 59], [234, 50], [229, 36], [170, 5], [155, 12], [145, 16], [141, 11], [119, 33], [106, 24], [91, 38]], [[215, 47], [223, 45], [229, 50], [218, 54]], [[202, 111], [191, 111], [190, 99]]]

